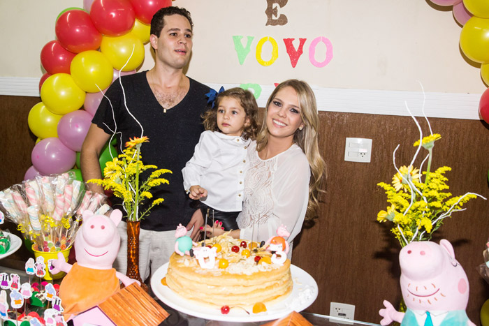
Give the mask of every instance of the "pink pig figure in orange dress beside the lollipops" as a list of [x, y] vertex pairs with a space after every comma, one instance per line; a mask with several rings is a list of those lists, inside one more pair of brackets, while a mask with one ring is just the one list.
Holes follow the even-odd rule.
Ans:
[[[110, 217], [83, 212], [83, 224], [75, 238], [75, 264], [70, 265], [61, 253], [53, 260], [53, 274], [66, 272], [59, 286], [59, 297], [63, 302], [64, 316], [69, 320], [73, 315], [105, 301], [124, 286], [138, 282], [112, 268], [120, 246], [117, 224], [122, 212], [115, 209]], [[139, 282], [138, 282], [139, 284]]]

